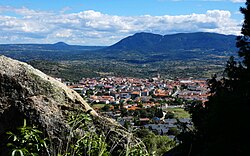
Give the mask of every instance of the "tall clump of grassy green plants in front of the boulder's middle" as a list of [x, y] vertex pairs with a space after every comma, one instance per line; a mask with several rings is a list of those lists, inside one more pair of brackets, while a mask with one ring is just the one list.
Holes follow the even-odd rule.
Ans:
[[71, 126], [70, 135], [68, 137], [67, 155], [86, 155], [86, 156], [108, 156], [108, 144], [105, 142], [104, 134], [97, 134], [90, 122], [91, 117], [79, 111], [71, 113], [68, 118]]

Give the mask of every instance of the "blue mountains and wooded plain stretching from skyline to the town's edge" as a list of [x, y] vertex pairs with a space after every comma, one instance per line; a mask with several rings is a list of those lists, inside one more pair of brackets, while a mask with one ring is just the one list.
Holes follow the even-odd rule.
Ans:
[[82, 77], [132, 76], [204, 77], [224, 68], [236, 56], [233, 35], [137, 33], [114, 45], [5, 44], [0, 54], [31, 63], [43, 72], [66, 80]]

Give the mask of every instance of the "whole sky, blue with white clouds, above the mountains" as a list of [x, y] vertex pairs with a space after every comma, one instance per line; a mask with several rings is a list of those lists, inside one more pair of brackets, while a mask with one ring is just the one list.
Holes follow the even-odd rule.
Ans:
[[138, 32], [239, 35], [244, 0], [0, 0], [0, 44], [112, 45]]

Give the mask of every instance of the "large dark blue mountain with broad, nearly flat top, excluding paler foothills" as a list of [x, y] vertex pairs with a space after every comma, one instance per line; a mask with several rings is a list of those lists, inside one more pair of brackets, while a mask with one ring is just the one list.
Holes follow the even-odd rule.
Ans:
[[173, 35], [158, 35], [152, 33], [136, 33], [126, 37], [116, 44], [107, 47], [106, 51], [138, 51], [167, 52], [170, 50], [215, 49], [235, 50], [234, 35], [216, 33], [180, 33]]

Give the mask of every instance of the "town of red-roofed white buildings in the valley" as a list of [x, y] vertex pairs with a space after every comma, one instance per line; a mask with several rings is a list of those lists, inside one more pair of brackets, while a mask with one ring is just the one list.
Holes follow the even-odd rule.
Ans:
[[145, 127], [172, 138], [177, 121], [191, 126], [187, 101], [207, 101], [209, 90], [204, 79], [150, 79], [131, 77], [83, 78], [65, 82], [97, 112], [112, 117], [126, 128]]

